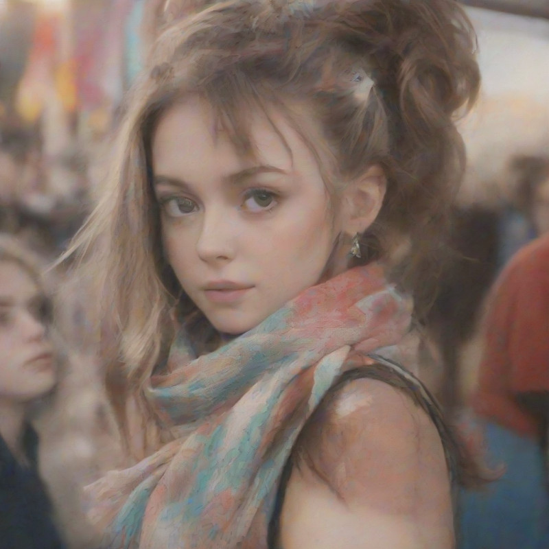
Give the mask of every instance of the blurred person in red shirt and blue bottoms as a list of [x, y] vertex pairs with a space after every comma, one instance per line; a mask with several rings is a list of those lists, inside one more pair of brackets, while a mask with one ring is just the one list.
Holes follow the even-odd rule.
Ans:
[[487, 458], [504, 466], [463, 498], [463, 549], [549, 547], [549, 235], [522, 248], [489, 296], [473, 408]]

